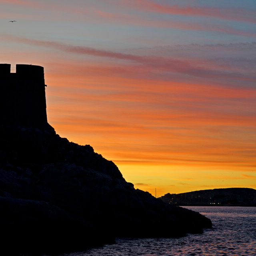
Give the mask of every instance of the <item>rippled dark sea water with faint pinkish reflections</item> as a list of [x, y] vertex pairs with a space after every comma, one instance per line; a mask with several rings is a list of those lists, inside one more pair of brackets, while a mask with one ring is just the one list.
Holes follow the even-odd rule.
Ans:
[[256, 207], [186, 206], [212, 220], [182, 238], [117, 238], [117, 244], [62, 256], [256, 256]]

